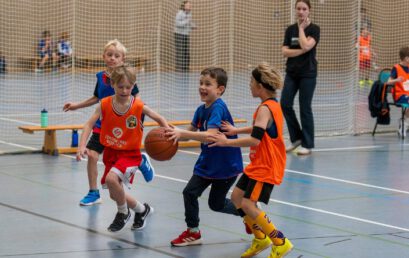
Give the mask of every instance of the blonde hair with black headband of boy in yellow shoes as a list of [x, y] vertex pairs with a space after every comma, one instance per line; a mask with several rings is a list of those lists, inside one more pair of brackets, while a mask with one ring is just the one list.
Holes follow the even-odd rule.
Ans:
[[261, 83], [269, 91], [275, 92], [283, 87], [283, 78], [280, 72], [266, 62], [257, 65], [252, 75], [257, 82]]

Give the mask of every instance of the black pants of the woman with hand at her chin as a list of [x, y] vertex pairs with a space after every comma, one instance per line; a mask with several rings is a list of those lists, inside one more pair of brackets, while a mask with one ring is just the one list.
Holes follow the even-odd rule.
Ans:
[[[316, 77], [292, 77], [285, 76], [284, 88], [281, 92], [281, 108], [291, 142], [301, 140], [301, 146], [307, 149], [314, 148], [314, 116], [311, 103], [314, 95]], [[301, 127], [294, 111], [294, 98], [299, 92]]]

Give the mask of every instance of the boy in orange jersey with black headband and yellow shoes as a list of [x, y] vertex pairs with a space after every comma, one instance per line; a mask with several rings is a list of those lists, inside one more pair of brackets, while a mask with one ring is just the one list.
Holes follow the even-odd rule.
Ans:
[[[273, 244], [269, 258], [283, 257], [293, 245], [277, 230], [267, 214], [259, 209], [257, 202], [268, 204], [274, 185], [284, 176], [286, 151], [283, 138], [283, 114], [277, 102], [276, 90], [282, 88], [280, 74], [267, 63], [259, 64], [252, 71], [250, 90], [261, 104], [253, 115], [253, 126], [236, 128], [224, 122], [226, 131], [208, 137], [210, 147], [250, 147], [250, 164], [233, 190], [231, 199], [244, 221], [252, 229], [255, 238], [241, 257], [252, 257]], [[226, 135], [251, 134], [248, 137], [228, 139]]]

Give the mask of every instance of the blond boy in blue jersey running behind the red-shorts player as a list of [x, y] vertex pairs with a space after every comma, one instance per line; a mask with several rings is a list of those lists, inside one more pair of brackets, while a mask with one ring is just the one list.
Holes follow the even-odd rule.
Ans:
[[[104, 47], [103, 59], [107, 66], [105, 71], [98, 72], [97, 84], [95, 86], [94, 95], [84, 101], [73, 103], [67, 102], [64, 104], [63, 110], [65, 112], [70, 110], [77, 110], [84, 107], [89, 107], [98, 103], [101, 99], [114, 95], [115, 91], [111, 87], [109, 75], [112, 72], [113, 68], [122, 65], [125, 62], [126, 55], [125, 46], [118, 40], [109, 41]], [[139, 89], [135, 84], [135, 87], [132, 90], [132, 95], [138, 96]], [[88, 140], [87, 149], [88, 151], [88, 183], [89, 183], [89, 192], [88, 194], [80, 201], [81, 206], [90, 206], [101, 202], [99, 190], [97, 187], [97, 177], [98, 169], [97, 162], [99, 160], [99, 155], [103, 152], [104, 146], [99, 142], [99, 136], [101, 131], [101, 121], [98, 120], [93, 128], [92, 135]], [[153, 179], [155, 171], [150, 164], [150, 160], [147, 154], [142, 153], [142, 162], [139, 166], [139, 170], [142, 172], [146, 182], [149, 182]], [[141, 212], [145, 212], [142, 210]], [[147, 211], [149, 212], [149, 211]], [[146, 214], [147, 215], [147, 214]]]

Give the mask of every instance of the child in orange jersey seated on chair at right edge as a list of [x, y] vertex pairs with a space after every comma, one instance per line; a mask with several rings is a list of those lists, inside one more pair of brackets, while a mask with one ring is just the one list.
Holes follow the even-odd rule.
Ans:
[[[409, 47], [402, 47], [399, 50], [400, 63], [393, 66], [388, 80], [389, 85], [395, 84], [393, 95], [395, 103], [402, 106], [409, 106]], [[409, 109], [406, 108], [404, 121], [399, 121], [398, 133], [406, 137], [409, 129]]]

